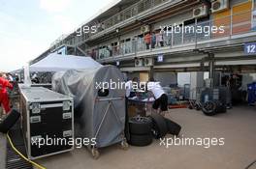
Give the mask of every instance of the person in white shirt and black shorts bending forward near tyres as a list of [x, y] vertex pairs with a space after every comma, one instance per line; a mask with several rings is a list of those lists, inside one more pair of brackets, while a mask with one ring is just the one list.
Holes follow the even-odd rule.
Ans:
[[155, 82], [154, 79], [151, 78], [147, 82], [147, 91], [151, 92], [155, 99], [152, 108], [164, 116], [165, 112], [168, 111], [168, 97], [160, 85], [160, 82]]

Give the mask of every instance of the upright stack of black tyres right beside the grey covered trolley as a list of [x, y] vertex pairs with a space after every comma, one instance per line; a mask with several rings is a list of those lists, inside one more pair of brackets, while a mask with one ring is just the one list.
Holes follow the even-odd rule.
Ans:
[[148, 146], [152, 143], [152, 122], [147, 117], [133, 117], [129, 120], [130, 138], [128, 142], [132, 146]]

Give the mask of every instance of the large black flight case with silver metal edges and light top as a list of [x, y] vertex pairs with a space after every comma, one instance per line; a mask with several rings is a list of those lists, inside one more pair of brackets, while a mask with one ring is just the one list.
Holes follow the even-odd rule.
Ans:
[[19, 85], [21, 128], [29, 159], [74, 149], [73, 99], [44, 87]]

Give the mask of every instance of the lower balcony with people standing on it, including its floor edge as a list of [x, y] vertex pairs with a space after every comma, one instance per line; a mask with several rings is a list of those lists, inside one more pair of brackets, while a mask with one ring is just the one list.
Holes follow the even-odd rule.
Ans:
[[[173, 31], [172, 34], [167, 35], [166, 33], [163, 34], [163, 32], [158, 31], [155, 35], [151, 34], [149, 36], [150, 42], [148, 42], [145, 37], [137, 37], [128, 42], [117, 42], [116, 45], [109, 44], [94, 48], [90, 50], [88, 54], [101, 63], [108, 63], [134, 57], [255, 41], [256, 28], [252, 25], [251, 16], [252, 11], [245, 11], [204, 22], [183, 25], [180, 33]], [[194, 28], [223, 26], [224, 32], [187, 32], [184, 30], [185, 26]]]

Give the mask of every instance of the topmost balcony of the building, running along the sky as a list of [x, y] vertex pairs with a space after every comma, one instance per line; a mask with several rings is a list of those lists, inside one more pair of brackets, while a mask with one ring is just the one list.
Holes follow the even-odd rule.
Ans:
[[146, 13], [153, 14], [155, 12], [165, 9], [166, 7], [174, 6], [175, 4], [186, 2], [186, 0], [140, 0], [139, 2], [125, 8], [119, 13], [115, 13], [107, 19], [98, 19], [97, 17], [87, 23], [88, 25], [96, 25], [97, 33], [87, 33], [82, 34], [81, 36], [77, 36], [76, 33], [72, 33], [69, 36], [61, 37], [60, 39], [52, 42], [50, 48], [51, 50], [55, 50], [61, 45], [80, 45], [87, 40], [91, 40], [93, 38], [101, 37], [107, 34], [110, 31], [114, 31], [117, 27], [121, 27], [122, 25], [128, 25], [135, 20], [140, 19], [139, 15]]

